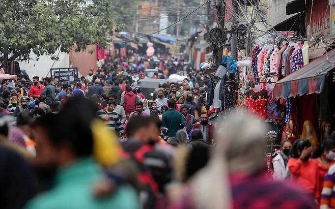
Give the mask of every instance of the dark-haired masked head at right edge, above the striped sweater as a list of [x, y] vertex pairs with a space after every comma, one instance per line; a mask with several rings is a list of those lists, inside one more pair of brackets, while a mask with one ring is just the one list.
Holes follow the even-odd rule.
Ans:
[[334, 160], [335, 158], [335, 137], [329, 136], [320, 142], [313, 154], [312, 158], [323, 158], [327, 160]]

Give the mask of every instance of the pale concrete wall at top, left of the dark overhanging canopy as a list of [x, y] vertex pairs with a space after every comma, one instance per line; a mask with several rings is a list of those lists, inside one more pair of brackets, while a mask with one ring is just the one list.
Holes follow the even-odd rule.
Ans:
[[284, 20], [294, 16], [286, 15], [286, 4], [292, 2], [292, 0], [267, 0], [268, 1], [268, 12], [267, 12], [267, 23], [274, 26]]

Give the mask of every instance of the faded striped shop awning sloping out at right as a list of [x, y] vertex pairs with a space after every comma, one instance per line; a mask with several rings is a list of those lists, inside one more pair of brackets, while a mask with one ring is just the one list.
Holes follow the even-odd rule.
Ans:
[[276, 82], [273, 97], [277, 99], [321, 93], [327, 73], [335, 68], [335, 49], [327, 54]]

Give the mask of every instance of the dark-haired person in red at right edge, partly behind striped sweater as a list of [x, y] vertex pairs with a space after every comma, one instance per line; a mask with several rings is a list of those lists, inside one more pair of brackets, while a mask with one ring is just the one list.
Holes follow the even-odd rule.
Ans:
[[319, 196], [321, 197], [324, 176], [329, 167], [335, 163], [335, 141], [331, 138], [323, 140], [316, 146], [312, 158], [316, 159], [319, 165]]

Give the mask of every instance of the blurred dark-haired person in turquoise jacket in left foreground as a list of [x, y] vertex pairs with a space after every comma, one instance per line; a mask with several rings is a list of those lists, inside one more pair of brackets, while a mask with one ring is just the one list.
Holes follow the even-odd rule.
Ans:
[[95, 185], [105, 173], [93, 158], [95, 105], [84, 100], [68, 101], [58, 114], [46, 115], [36, 124], [35, 164], [54, 165], [57, 172], [53, 187], [30, 200], [26, 209], [139, 208], [137, 194], [127, 184], [118, 185], [113, 194], [103, 198], [94, 195]]

